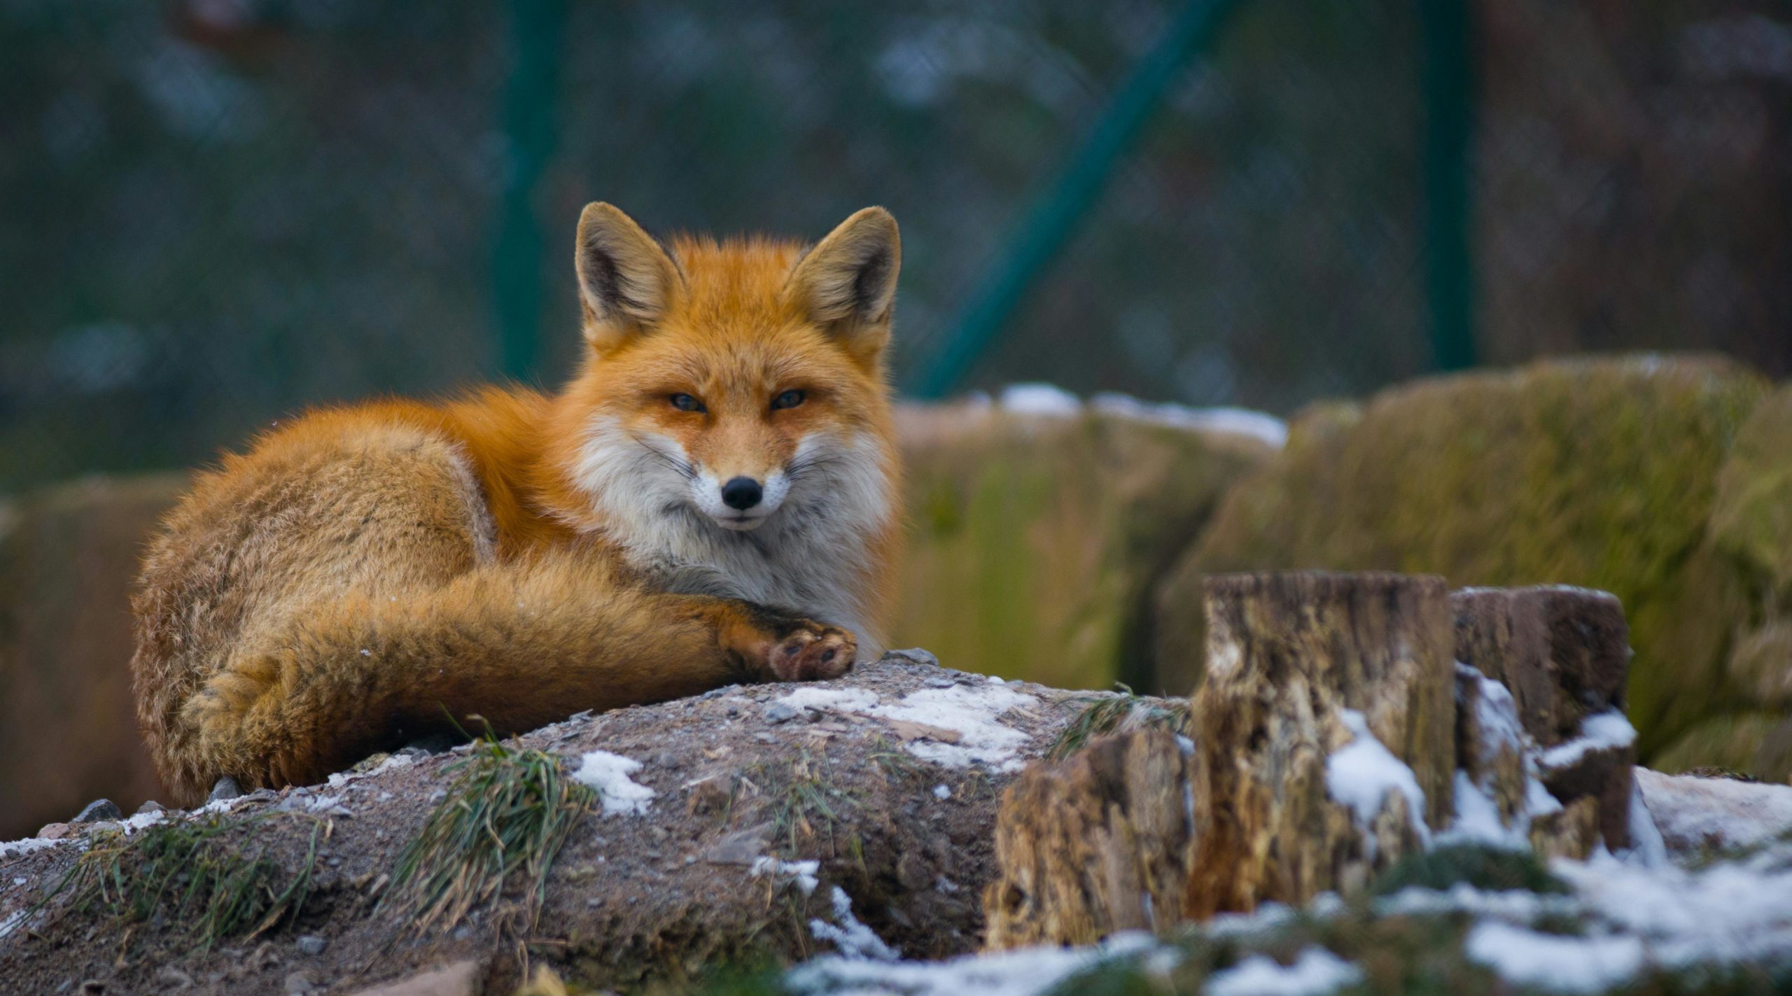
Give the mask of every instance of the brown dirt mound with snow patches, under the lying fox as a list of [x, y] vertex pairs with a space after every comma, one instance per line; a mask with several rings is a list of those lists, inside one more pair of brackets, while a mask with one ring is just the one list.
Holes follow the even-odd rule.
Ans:
[[[620, 754], [652, 790], [642, 813], [599, 808], [573, 828], [532, 930], [520, 926], [514, 881], [468, 923], [423, 939], [375, 910], [466, 747], [231, 803], [229, 817], [278, 813], [242, 833], [289, 874], [314, 828], [326, 838], [296, 923], [210, 951], [192, 949], [190, 924], [172, 923], [167, 905], [133, 923], [70, 903], [70, 890], [43, 903], [93, 833], [77, 824], [54, 844], [0, 846], [0, 992], [357, 992], [461, 958], [484, 966], [487, 994], [509, 992], [523, 958], [631, 989], [830, 949], [812, 921], [844, 923], [833, 887], [905, 957], [971, 951], [998, 795], [1090, 697], [896, 652], [831, 683], [729, 686], [505, 742], [563, 754], [566, 770], [590, 751]], [[799, 865], [758, 858], [817, 862], [814, 889]]]

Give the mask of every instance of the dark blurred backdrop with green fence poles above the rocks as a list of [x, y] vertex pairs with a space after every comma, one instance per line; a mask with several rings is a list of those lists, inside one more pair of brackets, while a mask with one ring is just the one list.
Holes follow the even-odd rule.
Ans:
[[1792, 367], [1776, 0], [4, 0], [0, 47], [0, 491], [552, 385], [591, 199], [806, 238], [889, 206], [910, 392]]

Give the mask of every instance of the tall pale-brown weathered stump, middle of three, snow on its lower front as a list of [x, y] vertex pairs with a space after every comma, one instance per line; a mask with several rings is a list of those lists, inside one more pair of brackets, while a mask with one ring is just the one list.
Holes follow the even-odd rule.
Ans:
[[[1190, 915], [1349, 892], [1453, 815], [1455, 634], [1439, 577], [1206, 579], [1208, 674], [1190, 704], [1195, 856]], [[1362, 743], [1339, 768], [1333, 758]], [[1423, 811], [1396, 788], [1400, 765]], [[1340, 761], [1342, 763], [1342, 761]], [[1362, 770], [1362, 774], [1357, 774]], [[1362, 781], [1367, 777], [1367, 785]]]

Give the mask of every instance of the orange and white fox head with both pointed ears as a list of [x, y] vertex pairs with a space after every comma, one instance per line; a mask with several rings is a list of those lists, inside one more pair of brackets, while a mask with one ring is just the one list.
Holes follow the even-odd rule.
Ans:
[[885, 527], [900, 263], [883, 208], [805, 247], [661, 244], [590, 204], [575, 242], [586, 356], [556, 407], [575, 525], [661, 559], [679, 559], [674, 534], [763, 545], [785, 528]]

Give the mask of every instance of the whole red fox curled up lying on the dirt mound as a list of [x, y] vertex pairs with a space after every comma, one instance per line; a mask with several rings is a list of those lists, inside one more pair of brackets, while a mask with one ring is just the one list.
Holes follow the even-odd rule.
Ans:
[[900, 466], [882, 208], [812, 247], [579, 217], [554, 396], [314, 410], [202, 473], [134, 598], [138, 720], [181, 804], [882, 650]]

